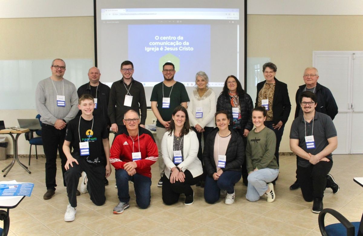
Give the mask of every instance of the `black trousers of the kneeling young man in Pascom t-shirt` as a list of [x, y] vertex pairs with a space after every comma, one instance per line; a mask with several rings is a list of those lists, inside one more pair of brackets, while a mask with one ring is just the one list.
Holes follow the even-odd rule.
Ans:
[[87, 174], [87, 190], [90, 194], [91, 201], [97, 205], [102, 206], [105, 201], [105, 175], [106, 169], [101, 166], [94, 166], [86, 162], [81, 156], [73, 156], [77, 161], [73, 162], [73, 167], [69, 166], [69, 169], [65, 173], [65, 181], [67, 184], [68, 200], [72, 207], [77, 207], [76, 190], [78, 187], [79, 178], [81, 178], [82, 171]]

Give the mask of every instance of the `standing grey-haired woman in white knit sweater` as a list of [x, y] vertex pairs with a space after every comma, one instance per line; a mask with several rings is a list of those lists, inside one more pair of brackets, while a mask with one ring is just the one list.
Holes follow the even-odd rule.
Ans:
[[203, 166], [202, 179], [196, 186], [204, 187], [206, 171], [203, 164], [201, 140], [202, 134], [205, 141], [208, 134], [215, 127], [214, 114], [216, 113], [216, 94], [213, 89], [208, 88], [208, 76], [203, 71], [200, 71], [195, 75], [195, 85], [196, 89], [193, 90], [193, 94], [189, 96], [188, 115], [190, 126], [198, 137], [198, 158]]

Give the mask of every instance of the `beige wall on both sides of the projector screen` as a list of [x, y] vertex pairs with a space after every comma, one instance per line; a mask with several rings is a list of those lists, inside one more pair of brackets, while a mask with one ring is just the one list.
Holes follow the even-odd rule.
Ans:
[[[280, 151], [289, 152], [295, 92], [303, 84], [303, 70], [312, 65], [312, 52], [363, 50], [363, 16], [248, 15], [247, 19], [247, 56], [270, 57], [278, 67], [276, 77], [288, 85], [293, 106]], [[0, 60], [94, 57], [93, 17], [0, 19], [0, 32]], [[36, 114], [1, 110], [0, 120], [17, 125], [17, 118]], [[148, 111], [147, 123], [152, 118]], [[19, 139], [19, 154], [27, 154], [29, 143], [23, 136]], [[11, 146], [8, 153], [12, 154]]]

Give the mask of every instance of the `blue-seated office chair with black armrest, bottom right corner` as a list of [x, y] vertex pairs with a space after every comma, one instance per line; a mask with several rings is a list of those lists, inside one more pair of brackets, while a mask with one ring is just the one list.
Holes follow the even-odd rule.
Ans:
[[[324, 218], [326, 213], [333, 215], [340, 223], [325, 226]], [[349, 220], [339, 212], [330, 208], [325, 208], [319, 213], [318, 222], [321, 235], [323, 236], [363, 236], [363, 215], [360, 222], [349, 222]]]

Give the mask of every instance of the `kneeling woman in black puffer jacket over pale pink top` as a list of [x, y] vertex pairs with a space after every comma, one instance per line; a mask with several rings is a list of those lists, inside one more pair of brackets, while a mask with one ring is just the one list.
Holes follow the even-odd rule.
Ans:
[[219, 200], [220, 191], [227, 191], [226, 204], [234, 203], [234, 184], [241, 179], [241, 165], [245, 160], [242, 138], [237, 131], [228, 127], [227, 111], [217, 111], [217, 128], [205, 140], [203, 162], [207, 176], [204, 199], [208, 203]]

